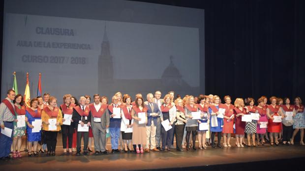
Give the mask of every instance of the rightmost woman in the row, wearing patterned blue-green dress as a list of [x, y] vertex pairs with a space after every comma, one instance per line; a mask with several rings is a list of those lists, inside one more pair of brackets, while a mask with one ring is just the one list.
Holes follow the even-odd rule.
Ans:
[[296, 97], [294, 99], [294, 108], [296, 110], [296, 115], [294, 117], [294, 123], [293, 128], [295, 129], [291, 138], [291, 144], [294, 144], [294, 137], [297, 135], [297, 133], [301, 132], [301, 141], [300, 145], [305, 145], [303, 142], [304, 139], [304, 129], [305, 129], [305, 116], [304, 116], [304, 105], [302, 104], [302, 100], [300, 97]]

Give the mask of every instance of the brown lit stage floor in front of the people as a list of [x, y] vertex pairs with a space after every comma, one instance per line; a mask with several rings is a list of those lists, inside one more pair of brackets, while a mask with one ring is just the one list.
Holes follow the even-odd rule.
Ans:
[[[232, 145], [235, 140], [232, 140]], [[23, 153], [24, 154], [24, 153]], [[25, 155], [25, 154], [24, 154]], [[265, 170], [290, 167], [294, 170], [305, 169], [305, 146], [265, 146], [227, 147], [197, 149], [196, 151], [179, 152], [172, 149], [168, 152], [150, 152], [144, 154], [115, 153], [107, 155], [75, 156], [62, 154], [57, 147], [57, 155], [47, 157], [24, 156], [20, 159], [0, 161], [2, 171], [41, 171], [41, 170]], [[245, 167], [245, 168], [244, 168]], [[263, 168], [262, 168], [263, 167]], [[299, 169], [298, 169], [299, 168]], [[292, 169], [292, 168], [291, 168]]]

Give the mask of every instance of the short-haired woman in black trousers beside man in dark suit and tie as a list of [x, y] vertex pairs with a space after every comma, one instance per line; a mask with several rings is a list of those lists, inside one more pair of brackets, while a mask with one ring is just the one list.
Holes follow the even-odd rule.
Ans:
[[71, 95], [67, 94], [63, 96], [63, 104], [61, 104], [61, 114], [62, 114], [62, 125], [61, 125], [61, 133], [62, 133], [62, 146], [63, 153], [67, 153], [67, 138], [68, 138], [68, 147], [69, 154], [72, 154], [72, 140], [73, 140], [73, 132], [74, 132], [74, 124], [72, 120], [73, 107], [75, 104], [71, 104]]

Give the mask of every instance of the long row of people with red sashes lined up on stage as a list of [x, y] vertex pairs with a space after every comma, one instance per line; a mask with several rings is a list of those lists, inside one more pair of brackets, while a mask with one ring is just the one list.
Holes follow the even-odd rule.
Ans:
[[[14, 90], [7, 92], [0, 104], [0, 126], [2, 130], [11, 129], [11, 137], [0, 135], [0, 158], [22, 157], [20, 153], [22, 137], [27, 133], [28, 156], [38, 156], [38, 152], [55, 156], [57, 134], [62, 133], [63, 153], [88, 155], [91, 142], [94, 141], [95, 154], [130, 152], [144, 153], [176, 150], [196, 150], [196, 139], [199, 149], [231, 147], [231, 134], [235, 133], [236, 146], [260, 146], [270, 138], [271, 146], [293, 145], [298, 131], [301, 132], [301, 145], [305, 145], [305, 113], [299, 97], [291, 104], [289, 98], [262, 96], [256, 101], [253, 98], [236, 98], [234, 105], [230, 96], [199, 95], [184, 98], [169, 92], [161, 98], [161, 92], [149, 93], [146, 99], [137, 94], [135, 100], [129, 95], [118, 92], [111, 98], [98, 94], [82, 96], [77, 100], [70, 94], [63, 96], [63, 104], [57, 106], [57, 98], [48, 93], [43, 97], [32, 98], [24, 104], [22, 95]], [[245, 104], [246, 103], [246, 104]], [[255, 105], [257, 103], [257, 106]], [[26, 107], [27, 106], [27, 107]], [[25, 126], [17, 126], [17, 116], [25, 115]], [[250, 117], [247, 115], [251, 115]], [[36, 126], [36, 127], [35, 127]], [[34, 131], [37, 126], [40, 131]], [[222, 133], [222, 135], [221, 135]], [[215, 136], [217, 134], [217, 145]], [[244, 142], [246, 134], [247, 143]], [[107, 138], [111, 138], [111, 148], [106, 147]], [[81, 149], [83, 139], [84, 147]], [[192, 141], [192, 144], [191, 144]], [[119, 146], [120, 144], [120, 146]], [[38, 151], [38, 146], [40, 150]], [[73, 149], [75, 148], [76, 149]]]

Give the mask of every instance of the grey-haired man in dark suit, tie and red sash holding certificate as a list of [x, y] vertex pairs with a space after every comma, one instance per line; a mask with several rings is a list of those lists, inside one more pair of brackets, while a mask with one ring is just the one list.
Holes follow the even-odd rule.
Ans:
[[91, 125], [91, 112], [86, 106], [87, 99], [82, 96], [79, 99], [79, 105], [73, 108], [72, 120], [75, 123], [77, 130], [76, 134], [76, 155], [81, 155], [81, 141], [84, 141], [84, 155], [88, 155], [88, 140], [89, 140], [89, 126]]

